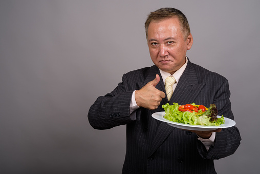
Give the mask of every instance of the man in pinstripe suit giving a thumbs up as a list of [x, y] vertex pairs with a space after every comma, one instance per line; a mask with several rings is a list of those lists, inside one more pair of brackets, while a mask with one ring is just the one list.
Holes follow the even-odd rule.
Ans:
[[[155, 65], [124, 74], [122, 83], [91, 106], [89, 122], [96, 129], [126, 124], [122, 173], [216, 173], [213, 160], [233, 154], [240, 145], [236, 127], [187, 131], [157, 121], [151, 114], [164, 111], [166, 103], [214, 103], [219, 115], [233, 119], [228, 81], [186, 57], [193, 38], [181, 11], [151, 12], [145, 31]], [[168, 76], [176, 81], [172, 95], [165, 90]]]

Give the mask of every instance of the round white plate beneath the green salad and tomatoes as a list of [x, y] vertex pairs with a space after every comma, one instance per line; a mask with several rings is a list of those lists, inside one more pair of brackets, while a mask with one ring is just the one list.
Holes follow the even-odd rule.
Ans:
[[[174, 127], [181, 128], [181, 129], [187, 129], [187, 130], [201, 130], [201, 131], [215, 130], [218, 128], [227, 128], [227, 127], [232, 127], [235, 125], [235, 122], [233, 120], [225, 118], [225, 117], [224, 117], [225, 124], [222, 124], [220, 126], [202, 126], [202, 125], [190, 125], [190, 124], [172, 122], [172, 121], [164, 119], [164, 115], [165, 115], [165, 112], [156, 112], [156, 113], [151, 114], [151, 117], [155, 118], [156, 120], [166, 122], [170, 126], [174, 126]], [[221, 116], [219, 116], [219, 115], [217, 117], [221, 118]]]

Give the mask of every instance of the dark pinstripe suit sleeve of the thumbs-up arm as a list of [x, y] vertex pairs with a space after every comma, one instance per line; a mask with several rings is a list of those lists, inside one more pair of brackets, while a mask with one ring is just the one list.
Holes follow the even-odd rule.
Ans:
[[90, 107], [88, 119], [95, 129], [110, 129], [132, 122], [129, 106], [134, 90], [129, 90], [126, 75], [122, 82], [110, 93], [99, 96]]

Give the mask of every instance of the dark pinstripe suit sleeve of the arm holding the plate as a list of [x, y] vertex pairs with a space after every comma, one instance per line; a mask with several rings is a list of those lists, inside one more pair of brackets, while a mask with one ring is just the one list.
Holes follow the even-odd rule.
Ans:
[[[218, 108], [218, 115], [224, 115], [224, 117], [234, 120], [229, 97], [230, 91], [228, 81], [225, 80], [219, 90], [215, 93], [214, 103]], [[218, 160], [233, 154], [239, 147], [240, 141], [240, 132], [233, 126], [230, 128], [223, 128], [221, 132], [216, 132], [215, 144], [209, 148], [209, 151], [205, 149], [199, 140], [197, 148], [202, 158]]]

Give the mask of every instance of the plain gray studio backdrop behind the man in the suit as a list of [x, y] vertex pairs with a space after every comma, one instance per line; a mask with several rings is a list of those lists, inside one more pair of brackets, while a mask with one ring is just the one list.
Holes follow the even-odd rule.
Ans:
[[191, 62], [224, 75], [242, 144], [218, 173], [259, 166], [260, 1], [0, 1], [0, 173], [120, 173], [125, 125], [93, 129], [88, 110], [123, 73], [151, 66], [146, 15], [175, 7]]

